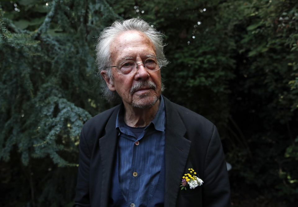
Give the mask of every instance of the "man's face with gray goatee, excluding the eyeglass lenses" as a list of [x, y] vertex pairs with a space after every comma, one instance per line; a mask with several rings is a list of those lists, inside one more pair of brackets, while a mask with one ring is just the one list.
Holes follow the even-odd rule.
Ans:
[[[137, 31], [121, 33], [113, 41], [110, 50], [111, 66], [117, 66], [124, 60], [141, 63], [149, 55], [156, 56], [151, 40]], [[112, 67], [111, 70], [114, 78], [106, 80], [108, 87], [111, 91], [117, 91], [124, 105], [147, 108], [153, 106], [160, 97], [160, 70], [147, 71], [143, 64], [138, 64], [138, 70], [130, 76], [119, 74], [117, 67]]]

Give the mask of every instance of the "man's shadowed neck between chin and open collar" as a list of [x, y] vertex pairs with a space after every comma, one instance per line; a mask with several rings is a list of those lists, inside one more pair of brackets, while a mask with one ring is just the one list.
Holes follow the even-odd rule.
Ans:
[[146, 127], [155, 117], [160, 105], [158, 100], [151, 108], [140, 109], [124, 104], [124, 122], [130, 127]]

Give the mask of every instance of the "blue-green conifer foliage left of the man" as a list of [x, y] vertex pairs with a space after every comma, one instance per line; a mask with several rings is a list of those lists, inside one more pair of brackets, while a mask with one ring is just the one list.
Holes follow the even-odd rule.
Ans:
[[[30, 201], [49, 206], [55, 200], [58, 206], [73, 199], [77, 168], [72, 166], [78, 165], [80, 130], [91, 114], [108, 107], [97, 83], [93, 46], [94, 37], [114, 20], [113, 14], [97, 14], [106, 6], [95, 1], [20, 1], [18, 12], [13, 3], [2, 3], [0, 159], [20, 157], [28, 176], [19, 180], [30, 182], [23, 191], [31, 192], [31, 199], [23, 196], [16, 204], [11, 197], [7, 205]], [[44, 163], [41, 169], [39, 162]], [[7, 169], [14, 168], [7, 164]]]

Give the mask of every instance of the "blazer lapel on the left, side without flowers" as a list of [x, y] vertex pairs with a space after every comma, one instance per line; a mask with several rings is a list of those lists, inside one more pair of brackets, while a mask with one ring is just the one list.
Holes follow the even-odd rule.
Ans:
[[115, 110], [106, 124], [106, 134], [99, 139], [99, 151], [102, 163], [102, 184], [101, 184], [101, 201], [100, 206], [108, 206], [108, 198], [111, 189], [112, 170], [114, 166], [117, 136], [118, 132], [115, 129], [115, 123], [118, 110]]

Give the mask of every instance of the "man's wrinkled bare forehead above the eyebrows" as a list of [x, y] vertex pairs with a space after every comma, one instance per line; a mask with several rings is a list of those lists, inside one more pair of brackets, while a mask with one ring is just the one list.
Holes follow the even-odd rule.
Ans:
[[115, 60], [115, 58], [120, 58], [121, 55], [135, 56], [138, 53], [156, 54], [156, 49], [150, 38], [143, 32], [127, 31], [120, 33], [114, 38], [110, 46], [110, 52], [111, 60]]

